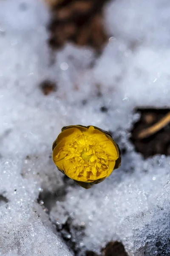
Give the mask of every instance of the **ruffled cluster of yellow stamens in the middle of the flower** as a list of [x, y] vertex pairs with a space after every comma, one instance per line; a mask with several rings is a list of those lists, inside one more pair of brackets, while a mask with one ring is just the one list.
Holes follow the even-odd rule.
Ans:
[[111, 156], [105, 152], [105, 148], [106, 143], [94, 139], [93, 135], [78, 134], [63, 148], [65, 160], [68, 160], [65, 173], [75, 180], [82, 176], [95, 180], [101, 172], [106, 175]]

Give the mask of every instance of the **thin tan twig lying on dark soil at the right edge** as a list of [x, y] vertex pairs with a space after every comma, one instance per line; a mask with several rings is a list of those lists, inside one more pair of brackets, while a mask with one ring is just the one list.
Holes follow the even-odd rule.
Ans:
[[142, 140], [144, 138], [149, 137], [152, 134], [155, 134], [157, 131], [160, 131], [164, 126], [166, 126], [169, 122], [170, 122], [170, 111], [163, 118], [161, 118], [156, 124], [140, 131], [138, 134], [138, 138]]

